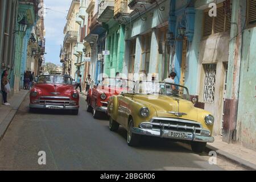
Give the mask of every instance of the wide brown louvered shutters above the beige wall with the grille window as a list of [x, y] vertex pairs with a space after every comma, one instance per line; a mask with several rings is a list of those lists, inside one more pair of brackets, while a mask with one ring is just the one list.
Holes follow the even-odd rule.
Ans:
[[[256, 0], [255, 0], [256, 1]], [[217, 5], [217, 16], [210, 17], [209, 10], [204, 12], [203, 36], [209, 36], [218, 32], [230, 31], [231, 28], [231, 5], [230, 3], [219, 3]]]

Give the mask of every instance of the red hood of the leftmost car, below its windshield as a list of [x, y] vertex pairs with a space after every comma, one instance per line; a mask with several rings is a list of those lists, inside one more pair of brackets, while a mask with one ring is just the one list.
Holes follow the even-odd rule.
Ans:
[[39, 89], [44, 96], [70, 96], [75, 90], [72, 85], [64, 84], [38, 84], [35, 89]]

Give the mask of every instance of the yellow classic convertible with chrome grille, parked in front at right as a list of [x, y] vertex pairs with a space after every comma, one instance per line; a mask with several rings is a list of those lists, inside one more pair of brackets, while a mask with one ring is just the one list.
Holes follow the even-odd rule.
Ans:
[[214, 117], [194, 106], [184, 86], [137, 81], [127, 87], [132, 89], [110, 97], [108, 115], [111, 131], [119, 125], [127, 130], [129, 146], [138, 146], [141, 136], [147, 135], [186, 140], [194, 152], [203, 152], [207, 142], [214, 141]]

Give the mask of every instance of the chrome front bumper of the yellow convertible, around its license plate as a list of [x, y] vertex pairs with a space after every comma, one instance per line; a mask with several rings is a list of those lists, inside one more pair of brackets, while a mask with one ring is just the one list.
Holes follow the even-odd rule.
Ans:
[[[195, 133], [186, 133], [187, 138], [177, 138], [177, 137], [170, 137], [168, 134], [172, 130], [151, 130], [151, 129], [141, 129], [138, 127], [133, 127], [133, 133], [138, 134], [138, 135], [147, 135], [147, 136], [152, 136], [152, 137], [161, 137], [161, 138], [171, 138], [171, 139], [176, 139], [176, 140], [189, 140], [192, 142], [209, 142], [212, 143], [214, 142], [213, 137], [207, 137], [203, 135], [197, 135]], [[177, 132], [177, 131], [173, 131]], [[185, 132], [184, 132], [185, 133]]]

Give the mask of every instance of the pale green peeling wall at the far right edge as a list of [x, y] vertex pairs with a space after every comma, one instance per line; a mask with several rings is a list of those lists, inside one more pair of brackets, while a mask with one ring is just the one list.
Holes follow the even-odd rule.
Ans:
[[238, 97], [238, 139], [256, 150], [256, 27], [243, 33], [243, 51]]

